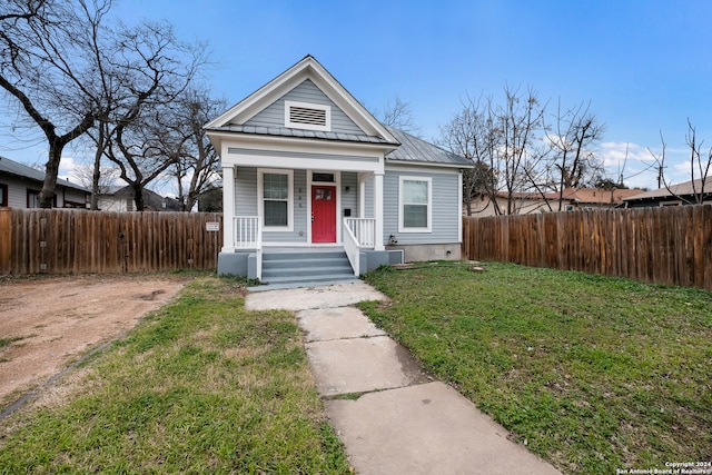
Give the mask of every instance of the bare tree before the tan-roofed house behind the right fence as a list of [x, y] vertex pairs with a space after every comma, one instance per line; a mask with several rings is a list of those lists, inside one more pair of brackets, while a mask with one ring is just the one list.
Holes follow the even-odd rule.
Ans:
[[604, 126], [589, 107], [582, 103], [562, 111], [560, 101], [553, 127], [551, 130], [544, 127], [552, 151], [551, 168], [558, 175], [554, 188], [558, 191], [560, 211], [566, 188], [594, 184], [605, 175], [601, 160], [592, 149], [601, 140]]

